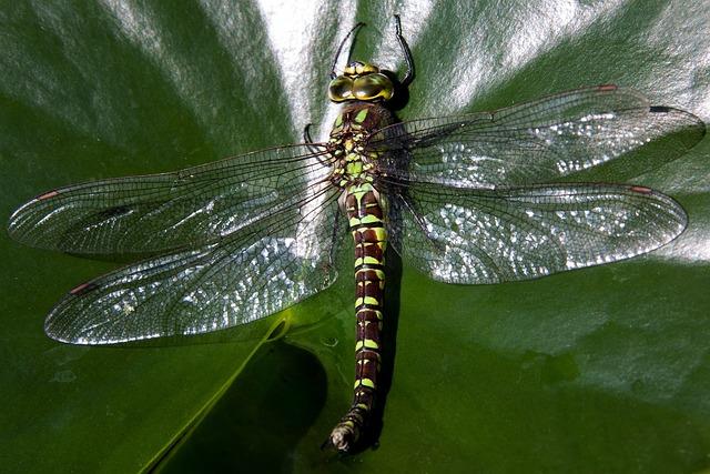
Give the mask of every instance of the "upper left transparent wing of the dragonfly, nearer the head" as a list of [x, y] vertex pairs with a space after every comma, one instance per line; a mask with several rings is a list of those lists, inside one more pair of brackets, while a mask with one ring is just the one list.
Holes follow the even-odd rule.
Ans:
[[323, 178], [316, 145], [243, 154], [173, 173], [89, 182], [44, 193], [10, 218], [28, 245], [77, 254], [146, 255], [199, 246], [293, 205]]

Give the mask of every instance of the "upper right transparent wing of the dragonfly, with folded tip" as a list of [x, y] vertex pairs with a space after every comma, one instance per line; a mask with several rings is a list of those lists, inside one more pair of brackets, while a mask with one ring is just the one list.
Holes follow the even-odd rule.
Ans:
[[[495, 112], [394, 124], [369, 147], [390, 151], [379, 167], [390, 179], [474, 189], [626, 180], [680, 157], [704, 131], [688, 112], [600, 85]], [[660, 137], [642, 157], [629, 153]]]

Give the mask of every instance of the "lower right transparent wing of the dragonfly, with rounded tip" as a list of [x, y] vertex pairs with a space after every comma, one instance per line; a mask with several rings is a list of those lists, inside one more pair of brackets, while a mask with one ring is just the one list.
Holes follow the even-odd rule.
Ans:
[[394, 248], [447, 283], [528, 280], [623, 260], [671, 241], [687, 223], [672, 199], [623, 184], [416, 184], [392, 201]]

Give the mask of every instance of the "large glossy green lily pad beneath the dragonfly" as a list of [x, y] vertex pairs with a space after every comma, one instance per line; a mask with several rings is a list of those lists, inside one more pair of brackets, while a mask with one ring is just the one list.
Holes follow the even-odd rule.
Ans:
[[[402, 69], [396, 12], [417, 65], [403, 119], [599, 83], [710, 115], [700, 0], [18, 3], [0, 12], [0, 218], [59, 185], [296, 142], [307, 122], [327, 133], [338, 41], [365, 21], [354, 57]], [[709, 152], [704, 139], [633, 177], [690, 219], [650, 255], [490, 286], [394, 271], [378, 445], [347, 457], [320, 445], [352, 396], [349, 269], [337, 288], [233, 342], [77, 347], [43, 335], [44, 314], [115, 264], [3, 235], [3, 471], [708, 468]], [[284, 320], [295, 330], [265, 344]]]

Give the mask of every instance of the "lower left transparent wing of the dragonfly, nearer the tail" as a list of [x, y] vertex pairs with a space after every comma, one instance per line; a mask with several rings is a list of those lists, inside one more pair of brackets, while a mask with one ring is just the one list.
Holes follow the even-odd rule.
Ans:
[[220, 241], [78, 286], [51, 311], [47, 334], [74, 344], [199, 334], [245, 324], [327, 288], [345, 232], [334, 233], [342, 219], [336, 192], [325, 184], [308, 190], [301, 209], [274, 210]]

